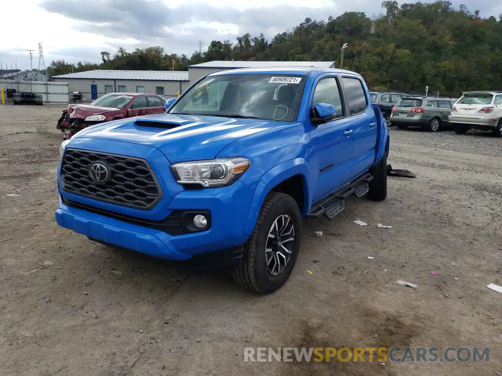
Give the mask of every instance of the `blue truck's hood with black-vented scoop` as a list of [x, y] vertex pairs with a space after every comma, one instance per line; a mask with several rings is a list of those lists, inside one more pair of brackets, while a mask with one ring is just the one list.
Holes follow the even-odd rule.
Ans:
[[171, 163], [213, 159], [226, 145], [283, 122], [216, 116], [157, 114], [106, 122], [73, 138], [100, 138], [160, 149]]

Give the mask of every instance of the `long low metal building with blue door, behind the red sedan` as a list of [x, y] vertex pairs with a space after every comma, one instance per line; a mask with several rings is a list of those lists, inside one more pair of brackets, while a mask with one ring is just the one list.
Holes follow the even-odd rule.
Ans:
[[188, 88], [188, 72], [93, 70], [52, 77], [67, 82], [69, 91], [78, 91], [82, 99], [93, 100], [115, 92], [158, 94], [175, 98]]

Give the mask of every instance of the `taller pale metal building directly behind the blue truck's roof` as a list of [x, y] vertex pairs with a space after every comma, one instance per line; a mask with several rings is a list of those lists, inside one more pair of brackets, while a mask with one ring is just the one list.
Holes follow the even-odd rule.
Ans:
[[190, 84], [199, 78], [213, 72], [238, 68], [268, 68], [268, 67], [316, 67], [335, 68], [334, 61], [210, 61], [207, 63], [190, 65], [188, 78]]

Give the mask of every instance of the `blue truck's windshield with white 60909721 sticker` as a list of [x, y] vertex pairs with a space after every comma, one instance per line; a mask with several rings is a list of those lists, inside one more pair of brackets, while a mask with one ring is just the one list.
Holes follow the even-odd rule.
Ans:
[[298, 75], [209, 76], [188, 90], [169, 113], [292, 121], [304, 81], [305, 76]]

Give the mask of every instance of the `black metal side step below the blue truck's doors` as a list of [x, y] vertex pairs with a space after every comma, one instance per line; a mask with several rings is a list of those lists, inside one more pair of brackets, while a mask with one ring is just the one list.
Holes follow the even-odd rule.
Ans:
[[372, 179], [373, 176], [369, 172], [362, 174], [348, 185], [341, 187], [338, 191], [313, 204], [306, 218], [315, 219], [324, 214], [326, 218], [333, 219], [345, 209], [345, 199], [348, 196], [352, 195], [360, 198], [369, 191], [368, 183]]

